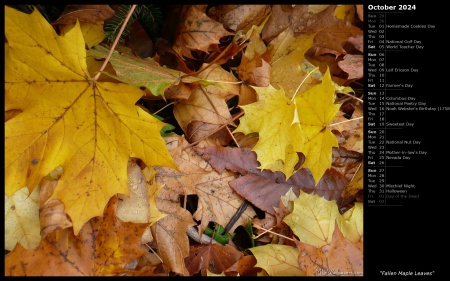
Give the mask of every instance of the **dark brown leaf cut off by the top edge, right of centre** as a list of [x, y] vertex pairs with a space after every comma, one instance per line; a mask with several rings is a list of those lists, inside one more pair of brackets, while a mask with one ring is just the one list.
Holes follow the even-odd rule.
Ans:
[[208, 15], [222, 23], [226, 29], [247, 33], [252, 25], [261, 24], [270, 13], [270, 5], [217, 5]]

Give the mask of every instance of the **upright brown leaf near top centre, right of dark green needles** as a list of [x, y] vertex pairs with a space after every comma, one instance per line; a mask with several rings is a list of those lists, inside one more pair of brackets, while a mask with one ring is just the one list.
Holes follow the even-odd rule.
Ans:
[[208, 52], [211, 45], [218, 45], [219, 39], [232, 35], [222, 24], [205, 14], [206, 5], [193, 5], [180, 22], [173, 49], [180, 56], [194, 59], [191, 51]]

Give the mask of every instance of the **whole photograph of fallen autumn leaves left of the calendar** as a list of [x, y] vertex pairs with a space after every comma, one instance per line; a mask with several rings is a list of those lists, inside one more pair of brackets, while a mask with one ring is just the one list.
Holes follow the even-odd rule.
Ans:
[[5, 275], [363, 276], [362, 5], [6, 5]]

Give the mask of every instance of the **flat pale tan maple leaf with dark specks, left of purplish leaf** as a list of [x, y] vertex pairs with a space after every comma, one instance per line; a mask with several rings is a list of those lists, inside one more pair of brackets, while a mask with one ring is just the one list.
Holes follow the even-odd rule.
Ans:
[[[244, 199], [233, 191], [228, 185], [235, 179], [235, 174], [229, 171], [217, 173], [192, 149], [183, 148], [188, 145], [184, 138], [172, 137], [176, 146], [168, 147], [172, 157], [180, 167], [180, 172], [164, 167], [157, 167], [157, 182], [176, 188], [181, 194], [197, 195], [198, 206], [194, 218], [201, 221], [199, 233], [202, 233], [209, 222], [216, 222], [226, 226]], [[248, 219], [255, 216], [254, 210], [249, 206], [230, 228], [230, 233], [239, 225], [245, 225]]]

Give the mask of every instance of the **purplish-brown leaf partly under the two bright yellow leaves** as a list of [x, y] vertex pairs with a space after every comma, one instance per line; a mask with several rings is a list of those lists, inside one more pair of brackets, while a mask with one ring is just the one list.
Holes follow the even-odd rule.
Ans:
[[300, 190], [315, 193], [327, 200], [338, 200], [348, 180], [334, 169], [327, 170], [316, 185], [307, 169], [298, 170], [286, 180], [281, 172], [258, 169], [256, 154], [249, 148], [221, 146], [195, 147], [194, 150], [222, 173], [224, 169], [236, 171], [241, 177], [229, 182], [239, 195], [261, 210], [275, 215], [281, 196], [290, 188], [298, 195]]

